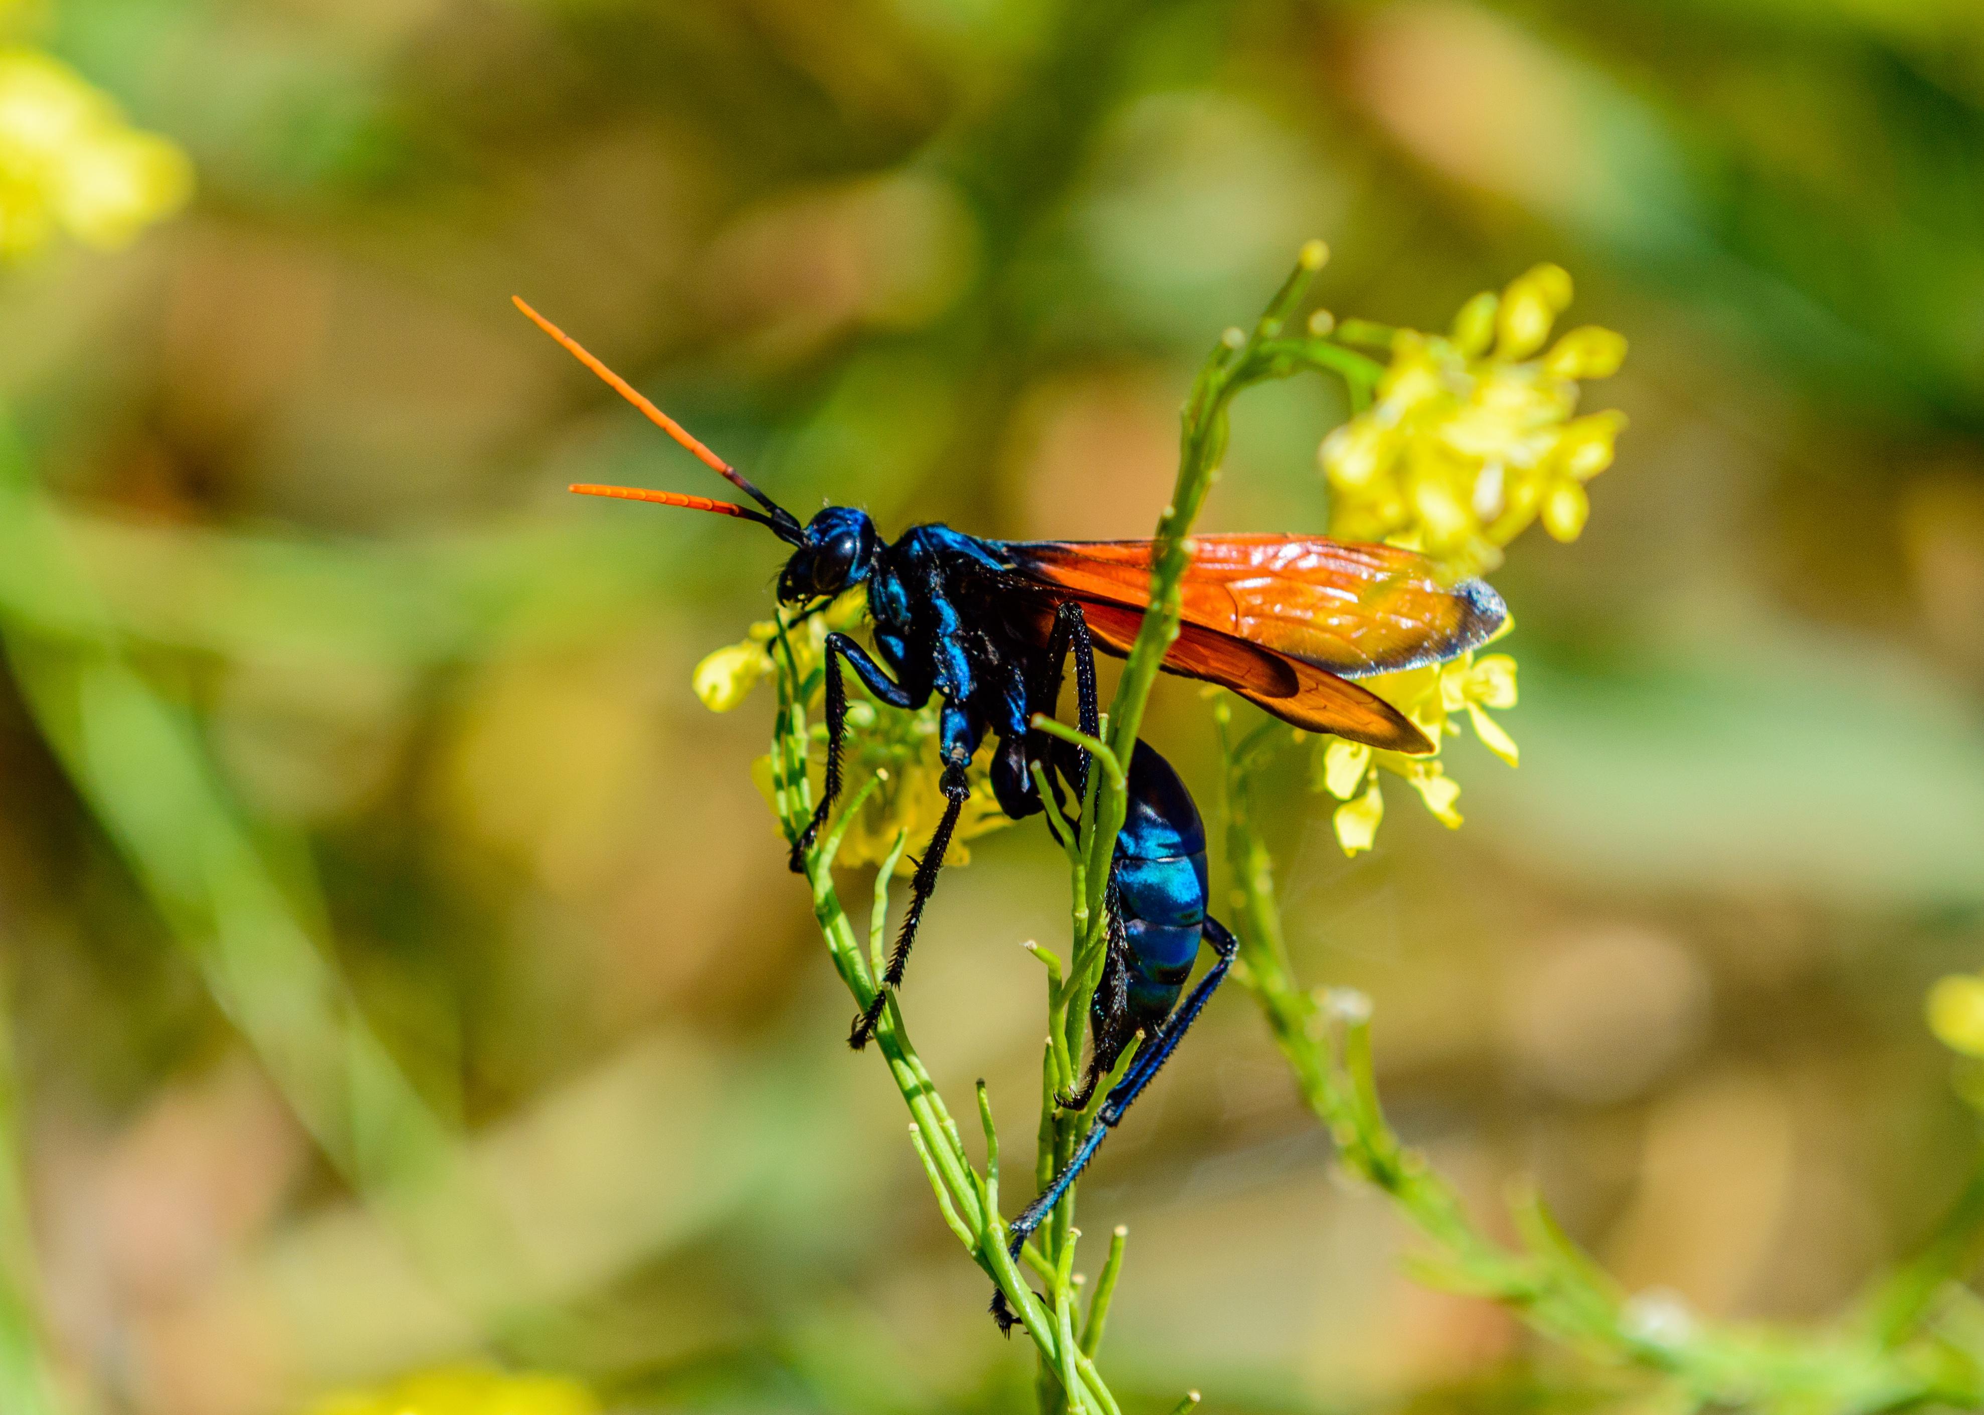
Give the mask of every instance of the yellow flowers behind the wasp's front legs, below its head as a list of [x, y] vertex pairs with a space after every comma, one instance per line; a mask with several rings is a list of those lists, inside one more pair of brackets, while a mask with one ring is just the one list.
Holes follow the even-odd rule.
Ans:
[[[855, 629], [867, 613], [865, 595], [859, 589], [835, 599], [825, 611], [815, 613], [804, 625], [796, 625], [788, 641], [800, 679], [813, 675], [825, 659], [829, 629]], [[770, 619], [754, 623], [742, 643], [716, 649], [716, 653], [696, 665], [692, 683], [696, 697], [712, 712], [728, 712], [742, 703], [768, 673], [774, 673], [772, 655], [778, 651], [774, 639], [778, 625]], [[811, 691], [807, 716], [817, 724], [825, 697], [823, 681]], [[909, 832], [911, 849], [921, 845], [936, 830], [936, 820], [944, 814], [944, 796], [938, 790], [942, 758], [936, 738], [938, 703], [915, 712], [899, 712], [881, 707], [861, 695], [859, 681], [849, 681], [847, 738], [841, 744], [841, 802], [851, 802], [873, 780], [875, 790], [861, 806], [861, 812], [847, 824], [841, 837], [843, 865], [879, 865], [895, 849], [901, 832]], [[819, 774], [825, 770], [825, 736], [815, 728], [813, 766], [817, 768], [813, 790], [821, 786]], [[970, 800], [958, 814], [958, 826], [950, 836], [950, 849], [944, 853], [946, 865], [970, 863], [966, 839], [974, 839], [1012, 820], [998, 808], [992, 796], [988, 774], [990, 746], [982, 748], [970, 766]], [[752, 780], [764, 798], [772, 800], [772, 758], [760, 756], [752, 762]], [[897, 859], [897, 873], [911, 873], [915, 861], [909, 855]]]

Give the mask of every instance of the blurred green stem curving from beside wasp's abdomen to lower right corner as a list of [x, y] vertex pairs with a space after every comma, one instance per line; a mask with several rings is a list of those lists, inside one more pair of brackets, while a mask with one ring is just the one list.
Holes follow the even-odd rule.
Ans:
[[[1415, 1266], [1438, 1286], [1508, 1306], [1538, 1332], [1597, 1359], [1673, 1381], [1692, 1405], [1784, 1411], [1885, 1411], [1922, 1403], [1974, 1409], [1984, 1401], [1980, 1357], [1921, 1330], [1928, 1294], [1950, 1284], [1984, 1226], [1972, 1185], [1930, 1250], [1903, 1268], [1853, 1332], [1722, 1326], [1649, 1310], [1623, 1294], [1555, 1226], [1536, 1195], [1512, 1205], [1522, 1246], [1482, 1234], [1454, 1187], [1391, 1129], [1371, 1064], [1369, 1002], [1296, 986], [1274, 893], [1274, 861], [1254, 820], [1260, 754], [1232, 744], [1230, 708], [1214, 716], [1226, 760], [1226, 859], [1240, 901], [1234, 976], [1252, 992], [1302, 1099], [1329, 1129], [1347, 1171], [1379, 1189], [1423, 1236]], [[1256, 740], [1256, 738], [1250, 738]]]

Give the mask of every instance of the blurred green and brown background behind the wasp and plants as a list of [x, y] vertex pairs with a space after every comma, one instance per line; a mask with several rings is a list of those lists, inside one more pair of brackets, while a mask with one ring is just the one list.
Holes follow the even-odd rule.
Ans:
[[[1835, 1310], [1962, 1183], [1921, 1016], [1984, 963], [1972, 0], [56, 0], [16, 30], [198, 183], [121, 252], [0, 276], [0, 1258], [79, 1409], [276, 1415], [468, 1353], [637, 1411], [1028, 1399], [843, 1046], [748, 778], [770, 701], [688, 689], [778, 548], [565, 496], [716, 486], [512, 294], [802, 514], [1083, 538], [1149, 534], [1198, 357], [1303, 238], [1323, 304], [1419, 327], [1563, 264], [1571, 322], [1633, 341], [1587, 407], [1633, 427], [1585, 536], [1496, 578], [1522, 770], [1458, 744], [1468, 826], [1407, 800], [1345, 861], [1292, 768], [1298, 968], [1375, 998], [1399, 1125], [1482, 1213], [1536, 1175], [1621, 1282], [1708, 1316]], [[1343, 413], [1246, 395], [1202, 524], [1321, 528]], [[1210, 812], [1192, 685], [1149, 736]], [[946, 877], [907, 990], [1014, 1137], [1030, 937], [1065, 941], [1034, 826]], [[1139, 1407], [1591, 1399], [1401, 1274], [1238, 990], [1083, 1217], [1131, 1226], [1103, 1365]]]

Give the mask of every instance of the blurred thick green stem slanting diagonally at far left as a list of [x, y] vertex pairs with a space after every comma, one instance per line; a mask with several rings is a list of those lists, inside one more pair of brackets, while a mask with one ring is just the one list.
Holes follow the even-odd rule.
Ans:
[[532, 1262], [319, 947], [308, 851], [272, 859], [272, 832], [234, 800], [190, 714], [131, 665], [6, 429], [0, 647], [77, 796], [329, 1163], [448, 1300], [526, 1340], [548, 1318], [516, 1298]]

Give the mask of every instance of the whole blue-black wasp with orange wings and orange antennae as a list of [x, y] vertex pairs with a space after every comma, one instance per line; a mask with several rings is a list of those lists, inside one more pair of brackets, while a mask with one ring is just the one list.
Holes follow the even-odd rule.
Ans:
[[[881, 986], [847, 1038], [859, 1050], [903, 980], [917, 925], [970, 796], [966, 766], [986, 734], [994, 736], [992, 792], [1008, 816], [1022, 820], [1044, 810], [1036, 766], [1055, 794], [1065, 780], [1081, 798], [1085, 754], [1030, 722], [1036, 712], [1054, 716], [1073, 655], [1077, 720], [1087, 736], [1097, 734], [1095, 649], [1129, 653], [1149, 603], [1153, 542], [984, 540], [940, 524], [911, 526], [887, 542], [867, 512], [851, 506], [827, 506], [802, 526], [577, 341], [522, 300], [516, 306], [762, 510], [631, 486], [581, 484], [573, 492], [766, 526], [792, 546], [778, 578], [782, 605], [823, 603], [857, 585], [867, 591], [881, 661], [845, 633], [827, 635], [825, 790], [792, 845], [794, 871], [804, 871], [806, 851], [841, 790], [847, 722], [841, 665], [889, 707], [921, 708], [932, 695], [940, 701], [944, 814], [917, 861]], [[1442, 583], [1428, 560], [1393, 546], [1321, 536], [1194, 536], [1194, 546], [1182, 581], [1182, 623], [1163, 669], [1232, 689], [1294, 726], [1369, 746], [1432, 750], [1411, 718], [1353, 679], [1442, 663], [1486, 641], [1506, 619], [1502, 599], [1484, 581]], [[1087, 1105], [1097, 1080], [1131, 1042], [1141, 1036], [1145, 1046], [1069, 1163], [1014, 1221], [1016, 1256], [1171, 1058], [1236, 951], [1234, 937], [1206, 913], [1206, 836], [1198, 808], [1171, 764], [1143, 740], [1131, 754], [1127, 798], [1107, 893], [1109, 959], [1091, 1008], [1093, 1056], [1081, 1088], [1059, 1097], [1061, 1105]], [[1200, 943], [1214, 951], [1214, 965], [1180, 1006]], [[1002, 1330], [1010, 1328], [1014, 1318], [1002, 1296], [992, 1312]]]

